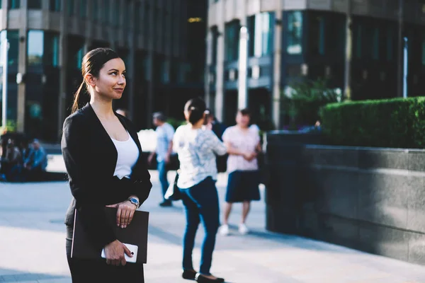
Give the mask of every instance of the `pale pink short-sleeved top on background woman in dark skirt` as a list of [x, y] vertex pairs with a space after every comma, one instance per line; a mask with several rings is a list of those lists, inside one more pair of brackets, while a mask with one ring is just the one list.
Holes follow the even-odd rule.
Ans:
[[[228, 127], [223, 133], [223, 141], [232, 145], [234, 149], [240, 151], [254, 152], [260, 142], [259, 132], [255, 127], [249, 127], [243, 131], [237, 126]], [[227, 173], [233, 171], [258, 170], [257, 159], [247, 161], [244, 156], [229, 155], [227, 158]]]

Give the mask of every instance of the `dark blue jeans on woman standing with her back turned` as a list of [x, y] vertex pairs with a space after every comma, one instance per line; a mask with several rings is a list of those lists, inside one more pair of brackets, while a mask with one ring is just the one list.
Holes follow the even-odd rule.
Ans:
[[181, 189], [186, 210], [186, 230], [183, 235], [183, 270], [193, 270], [192, 250], [200, 221], [205, 229], [200, 257], [200, 274], [210, 275], [215, 236], [220, 226], [217, 188], [211, 177], [188, 189]]

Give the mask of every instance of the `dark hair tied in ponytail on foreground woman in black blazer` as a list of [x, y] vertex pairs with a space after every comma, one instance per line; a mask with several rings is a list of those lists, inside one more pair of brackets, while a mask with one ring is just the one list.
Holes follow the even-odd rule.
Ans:
[[118, 54], [110, 48], [96, 48], [87, 52], [84, 55], [83, 62], [81, 63], [81, 74], [83, 75], [83, 82], [74, 94], [74, 103], [72, 103], [72, 113], [79, 110], [82, 104], [86, 102], [81, 100], [81, 93], [86, 93], [89, 90], [89, 86], [84, 80], [86, 74], [91, 74], [94, 77], [99, 76], [99, 72], [103, 68], [106, 62], [109, 60], [119, 58]]

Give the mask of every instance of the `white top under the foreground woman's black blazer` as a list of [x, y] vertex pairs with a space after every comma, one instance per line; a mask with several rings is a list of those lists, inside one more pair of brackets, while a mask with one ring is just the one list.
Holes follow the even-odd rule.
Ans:
[[139, 149], [137, 144], [128, 134], [126, 141], [117, 141], [112, 139], [113, 144], [118, 152], [117, 165], [115, 166], [114, 176], [118, 178], [130, 178], [132, 167], [135, 166], [137, 159], [139, 158]]

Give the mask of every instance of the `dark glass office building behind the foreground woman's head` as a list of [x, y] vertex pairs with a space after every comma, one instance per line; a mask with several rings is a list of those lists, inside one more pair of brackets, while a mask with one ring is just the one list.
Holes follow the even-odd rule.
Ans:
[[[125, 61], [127, 87], [115, 108], [130, 110], [139, 129], [152, 127], [154, 111], [182, 118], [183, 103], [204, 91], [198, 37], [205, 37], [206, 11], [206, 0], [0, 0], [0, 39], [10, 45], [8, 120], [29, 137], [58, 141], [81, 59], [96, 47]], [[188, 57], [195, 53], [188, 37], [199, 43], [196, 58]]]

